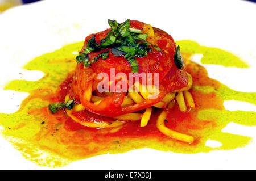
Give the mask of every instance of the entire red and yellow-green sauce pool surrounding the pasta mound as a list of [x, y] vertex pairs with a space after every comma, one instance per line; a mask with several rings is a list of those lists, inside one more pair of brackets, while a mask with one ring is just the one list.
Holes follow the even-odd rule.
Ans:
[[[176, 153], [200, 153], [211, 150], [234, 149], [249, 144], [250, 137], [221, 132], [231, 120], [245, 125], [256, 125], [255, 112], [226, 111], [224, 100], [236, 99], [253, 104], [255, 93], [238, 92], [229, 89], [220, 82], [208, 77], [207, 71], [189, 57], [195, 53], [204, 55], [205, 64], [223, 66], [248, 66], [236, 56], [224, 50], [203, 47], [194, 41], [178, 41], [183, 57], [187, 61], [187, 71], [193, 77], [190, 90], [196, 108], [189, 112], [180, 112], [175, 107], [167, 116], [166, 127], [195, 137], [192, 144], [172, 140], [156, 128], [159, 109], [154, 109], [146, 127], [140, 127], [140, 121], [128, 122], [116, 129], [94, 129], [84, 127], [70, 117], [64, 110], [54, 115], [48, 110], [49, 102], [57, 102], [67, 94], [72, 81], [71, 70], [76, 61], [72, 52], [80, 49], [82, 43], [71, 44], [44, 54], [28, 63], [28, 70], [40, 70], [46, 75], [39, 81], [12, 81], [5, 87], [8, 90], [30, 92], [23, 100], [20, 110], [14, 114], [0, 114], [2, 134], [24, 157], [42, 166], [59, 167], [73, 161], [106, 153], [124, 153], [133, 149], [152, 148]], [[207, 50], [207, 51], [206, 51]], [[228, 64], [216, 60], [216, 54], [229, 61]], [[188, 64], [188, 62], [190, 62]], [[40, 66], [39, 66], [40, 65]], [[62, 82], [62, 83], [61, 83]], [[60, 85], [60, 86], [59, 86]], [[86, 115], [88, 112], [84, 112]], [[244, 120], [244, 121], [241, 121]], [[222, 146], [205, 146], [207, 140], [221, 142]], [[42, 157], [47, 155], [47, 157]]]

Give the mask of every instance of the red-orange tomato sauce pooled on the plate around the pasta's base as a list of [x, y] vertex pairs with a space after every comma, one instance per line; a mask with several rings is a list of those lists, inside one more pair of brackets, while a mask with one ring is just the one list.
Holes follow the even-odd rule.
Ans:
[[[194, 72], [195, 69], [198, 69], [198, 71]], [[187, 71], [191, 73], [195, 85], [210, 84], [216, 89], [220, 86], [218, 81], [207, 77], [207, 72], [200, 65], [191, 62], [187, 66]], [[201, 79], [199, 77], [204, 78]], [[205, 80], [208, 81], [205, 82]], [[49, 102], [52, 100], [57, 102], [63, 101], [71, 85], [72, 74], [69, 74], [67, 79], [61, 83], [57, 92], [49, 94], [47, 97], [37, 97]], [[189, 145], [192, 148], [201, 142], [201, 135], [196, 134], [196, 132], [200, 132], [202, 129], [214, 129], [217, 125], [214, 120], [202, 121], [198, 119], [197, 112], [205, 108], [223, 110], [224, 106], [222, 106], [223, 100], [214, 93], [204, 94], [193, 89], [190, 92], [195, 99], [196, 108], [188, 112], [181, 112], [179, 106], [175, 104], [175, 107], [167, 116], [165, 125], [174, 131], [194, 136], [195, 142]], [[52, 114], [48, 107], [43, 107], [40, 110], [28, 110], [28, 113], [41, 117], [45, 120], [44, 124], [47, 124], [47, 129], [42, 129], [36, 136], [38, 141], [43, 143], [42, 146], [47, 146], [48, 149], [57, 151], [65, 157], [82, 159], [91, 157], [92, 155], [108, 153], [113, 149], [113, 146], [121, 147], [122, 145], [126, 145], [127, 142], [136, 142], [138, 140], [143, 141], [143, 143], [139, 145], [134, 144], [133, 146], [130, 145], [129, 149], [138, 149], [145, 146], [150, 147], [153, 141], [158, 144], [188, 146], [187, 143], [165, 136], [156, 128], [156, 119], [161, 111], [161, 109], [154, 108], [154, 112], [146, 127], [140, 127], [140, 121], [128, 121], [118, 128], [98, 129], [85, 127], [76, 123], [67, 115], [64, 109]], [[76, 116], [81, 121], [94, 121], [96, 123], [114, 121], [112, 118], [96, 115], [86, 110], [77, 112]], [[52, 148], [53, 145], [49, 144], [49, 142], [55, 142], [59, 146]], [[151, 142], [151, 144], [147, 145], [147, 142]], [[63, 151], [63, 148], [68, 151]]]

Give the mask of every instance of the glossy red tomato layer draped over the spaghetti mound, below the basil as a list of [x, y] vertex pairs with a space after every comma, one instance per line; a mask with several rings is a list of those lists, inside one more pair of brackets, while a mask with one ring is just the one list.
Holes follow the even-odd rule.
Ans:
[[[142, 30], [144, 28], [143, 22], [131, 20], [130, 27]], [[131, 72], [131, 66], [125, 60], [123, 56], [116, 57], [111, 52], [110, 48], [101, 50], [99, 52], [89, 53], [89, 58], [92, 60], [102, 52], [109, 51], [109, 57], [103, 60], [99, 58], [97, 62], [92, 62], [92, 66], [84, 67], [82, 63], [77, 64], [75, 75], [73, 77], [73, 85], [70, 95], [76, 99], [76, 102], [86, 108], [86, 110], [96, 113], [102, 116], [115, 117], [126, 113], [131, 113], [139, 110], [143, 110], [147, 107], [160, 102], [167, 92], [181, 89], [188, 85], [187, 73], [185, 68], [178, 69], [174, 63], [174, 54], [176, 52], [176, 44], [172, 37], [168, 33], [160, 30], [159, 28], [153, 28], [155, 36], [150, 36], [146, 41], [158, 46], [161, 50], [156, 50], [150, 45], [152, 51], [148, 52], [146, 57], [138, 58], [136, 60], [139, 64], [139, 73], [158, 73], [159, 74], [159, 87], [160, 94], [158, 98], [146, 99], [141, 103], [134, 104], [132, 106], [121, 107], [121, 104], [125, 98], [126, 92], [114, 92], [113, 96], [106, 96], [97, 106], [92, 102], [86, 100], [84, 93], [88, 90], [90, 83], [93, 81], [99, 82], [97, 75], [100, 73], [106, 73], [110, 78], [110, 69], [114, 68], [115, 75], [117, 73], [125, 73], [128, 77]], [[88, 40], [95, 36], [95, 40], [100, 44], [101, 39], [108, 35], [110, 29], [102, 32], [94, 33], [85, 38], [84, 47], [81, 52], [84, 52]], [[110, 81], [110, 79], [109, 79]], [[154, 80], [153, 80], [154, 81]], [[117, 81], [115, 81], [117, 83]], [[153, 82], [154, 83], [154, 82]]]

